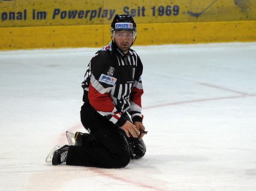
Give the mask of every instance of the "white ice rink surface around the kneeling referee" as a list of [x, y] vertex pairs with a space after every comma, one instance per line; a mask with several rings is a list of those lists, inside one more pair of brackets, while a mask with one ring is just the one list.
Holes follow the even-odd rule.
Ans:
[[98, 48], [0, 52], [0, 190], [256, 190], [256, 43], [133, 47], [146, 155], [124, 169], [45, 163], [80, 123]]

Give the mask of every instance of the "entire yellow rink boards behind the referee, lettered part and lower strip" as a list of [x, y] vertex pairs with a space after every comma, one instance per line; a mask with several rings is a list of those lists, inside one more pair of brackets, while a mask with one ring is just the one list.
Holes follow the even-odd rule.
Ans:
[[256, 41], [253, 0], [0, 1], [0, 49], [101, 47], [115, 14], [131, 14], [136, 45]]

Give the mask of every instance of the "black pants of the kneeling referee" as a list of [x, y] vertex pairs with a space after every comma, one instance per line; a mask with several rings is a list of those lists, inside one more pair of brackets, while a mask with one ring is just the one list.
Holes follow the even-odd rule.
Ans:
[[[126, 116], [129, 119], [129, 116]], [[97, 113], [92, 106], [81, 108], [81, 122], [90, 133], [84, 133], [82, 146], [71, 146], [66, 164], [100, 168], [123, 168], [130, 158], [144, 156], [143, 140], [127, 137], [117, 125]]]

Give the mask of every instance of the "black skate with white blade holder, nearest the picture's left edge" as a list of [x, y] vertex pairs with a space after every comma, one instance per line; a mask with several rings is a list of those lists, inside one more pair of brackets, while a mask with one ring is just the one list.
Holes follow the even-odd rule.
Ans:
[[58, 165], [66, 162], [66, 157], [68, 156], [69, 145], [64, 145], [60, 147], [57, 145], [52, 149], [50, 154], [46, 157], [46, 162], [52, 162], [52, 165]]

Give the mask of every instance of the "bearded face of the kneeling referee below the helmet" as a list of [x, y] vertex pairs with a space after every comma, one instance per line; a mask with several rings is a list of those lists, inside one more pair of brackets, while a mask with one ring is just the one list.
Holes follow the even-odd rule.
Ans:
[[132, 45], [132, 31], [115, 31], [114, 42], [122, 52], [127, 52]]

